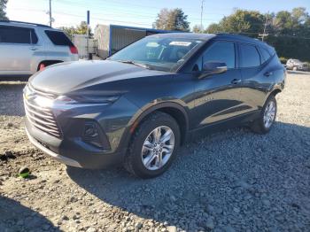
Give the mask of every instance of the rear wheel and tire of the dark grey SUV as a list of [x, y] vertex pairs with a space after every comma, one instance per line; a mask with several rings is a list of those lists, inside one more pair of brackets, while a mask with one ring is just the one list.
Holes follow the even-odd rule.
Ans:
[[[267, 110], [268, 110], [267, 107], [271, 107], [270, 104], [274, 105], [275, 111], [273, 114], [272, 113], [271, 115], [269, 114], [269, 116], [271, 117], [271, 120], [269, 121], [269, 123], [267, 123], [267, 120], [266, 120], [267, 117], [265, 117], [265, 113], [267, 114]], [[260, 118], [252, 122], [252, 127], [251, 127], [252, 131], [254, 133], [261, 134], [261, 135], [267, 134], [272, 128], [272, 126], [274, 125], [275, 117], [276, 117], [276, 110], [277, 110], [277, 105], [276, 105], [275, 96], [271, 95], [267, 98], [267, 101], [264, 104], [264, 107], [262, 108], [260, 112]]]

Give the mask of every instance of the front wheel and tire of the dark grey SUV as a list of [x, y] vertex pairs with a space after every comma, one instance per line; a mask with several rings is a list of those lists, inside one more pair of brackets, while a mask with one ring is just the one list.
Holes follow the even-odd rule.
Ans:
[[[172, 133], [170, 133], [168, 129], [170, 129]], [[155, 138], [155, 135], [168, 135], [169, 133], [167, 132], [170, 133], [169, 141], [161, 143], [160, 141], [166, 139], [159, 140]], [[164, 136], [160, 136], [160, 138], [164, 138]], [[167, 138], [167, 136], [165, 138]], [[159, 142], [156, 143], [156, 141]], [[169, 166], [171, 166], [180, 146], [180, 141], [180, 128], [174, 118], [165, 112], [152, 112], [152, 114], [143, 120], [140, 126], [136, 129], [128, 146], [128, 152], [124, 160], [124, 167], [129, 173], [143, 179], [153, 178], [163, 174]], [[166, 152], [169, 151], [167, 147], [169, 146], [169, 149], [171, 149], [171, 144], [173, 143], [174, 147], [172, 151]], [[157, 144], [156, 147], [154, 147], [154, 144]], [[162, 146], [162, 150], [160, 150], [160, 146]], [[156, 151], [154, 149], [156, 149]], [[151, 160], [151, 157], [154, 156], [154, 154], [154, 160], [149, 162], [149, 167], [147, 167], [148, 162], [145, 160]], [[158, 156], [156, 156], [156, 154]], [[159, 161], [159, 157], [162, 157], [162, 162]], [[162, 166], [160, 166], [160, 164]]]

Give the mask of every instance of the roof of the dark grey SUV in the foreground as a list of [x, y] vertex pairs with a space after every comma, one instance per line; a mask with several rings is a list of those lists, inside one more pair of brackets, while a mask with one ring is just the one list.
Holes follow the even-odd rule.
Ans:
[[244, 35], [233, 35], [233, 34], [200, 34], [200, 33], [167, 33], [167, 34], [156, 34], [150, 35], [149, 37], [160, 37], [160, 38], [176, 38], [176, 39], [193, 39], [208, 41], [213, 38], [219, 38], [223, 40], [230, 40], [240, 43], [252, 43], [267, 47], [267, 49], [273, 49], [267, 43], [261, 42], [258, 39], [253, 39]]

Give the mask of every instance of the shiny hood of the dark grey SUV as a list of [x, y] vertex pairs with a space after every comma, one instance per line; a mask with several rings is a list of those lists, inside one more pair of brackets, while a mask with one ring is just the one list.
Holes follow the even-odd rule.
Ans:
[[48, 66], [29, 83], [35, 89], [63, 95], [105, 82], [167, 74], [110, 60], [75, 61]]

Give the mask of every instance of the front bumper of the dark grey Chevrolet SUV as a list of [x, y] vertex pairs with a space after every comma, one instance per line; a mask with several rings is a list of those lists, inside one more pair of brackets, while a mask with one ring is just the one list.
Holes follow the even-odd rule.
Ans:
[[[31, 100], [24, 98], [24, 101]], [[128, 128], [132, 124], [133, 115], [138, 111], [136, 105], [121, 97], [111, 105], [65, 106], [53, 104], [49, 113], [55, 116], [55, 122], [50, 122], [50, 118], [46, 120], [46, 123], [53, 125], [53, 131], [56, 130], [55, 125], [58, 125], [59, 135], [49, 133], [50, 126], [44, 128], [44, 121], [40, 122], [43, 118], [38, 119], [39, 116], [34, 116], [40, 114], [33, 109], [33, 115], [29, 115], [32, 112], [26, 107], [25, 124], [30, 142], [53, 159], [68, 166], [94, 169], [122, 164], [130, 137]], [[35, 121], [40, 122], [42, 127]], [[85, 125], [89, 122], [95, 123], [102, 131], [102, 134], [99, 133], [103, 135], [100, 137], [100, 141], [103, 141], [100, 145], [89, 142], [83, 134]]]

